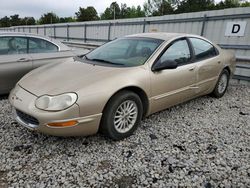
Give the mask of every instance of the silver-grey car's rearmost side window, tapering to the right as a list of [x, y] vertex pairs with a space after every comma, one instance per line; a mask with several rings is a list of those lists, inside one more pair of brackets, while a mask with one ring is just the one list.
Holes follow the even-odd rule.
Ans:
[[57, 52], [58, 47], [49, 41], [39, 38], [29, 38], [29, 53]]

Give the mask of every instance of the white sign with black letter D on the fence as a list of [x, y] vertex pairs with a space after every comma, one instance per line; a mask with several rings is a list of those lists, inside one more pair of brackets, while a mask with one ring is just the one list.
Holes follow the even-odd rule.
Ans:
[[225, 36], [243, 37], [245, 34], [246, 24], [246, 21], [227, 22]]

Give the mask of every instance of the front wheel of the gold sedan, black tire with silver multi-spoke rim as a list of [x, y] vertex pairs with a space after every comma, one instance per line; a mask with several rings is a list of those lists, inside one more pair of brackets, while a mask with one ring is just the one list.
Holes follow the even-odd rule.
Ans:
[[106, 105], [100, 132], [112, 140], [124, 139], [137, 129], [141, 123], [142, 114], [143, 106], [140, 97], [131, 91], [121, 91], [115, 94]]

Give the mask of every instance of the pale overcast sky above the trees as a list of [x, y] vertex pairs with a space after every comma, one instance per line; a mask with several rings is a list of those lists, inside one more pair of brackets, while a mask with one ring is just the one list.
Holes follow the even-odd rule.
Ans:
[[36, 19], [47, 12], [54, 12], [59, 17], [75, 16], [79, 7], [93, 6], [98, 14], [103, 13], [110, 4], [116, 1], [119, 5], [143, 5], [145, 0], [0, 0], [0, 18], [19, 14], [20, 17]]

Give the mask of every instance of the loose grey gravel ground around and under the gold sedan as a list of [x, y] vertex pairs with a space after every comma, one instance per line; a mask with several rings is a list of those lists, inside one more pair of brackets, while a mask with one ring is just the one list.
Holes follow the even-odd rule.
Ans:
[[119, 142], [32, 133], [0, 99], [0, 187], [250, 187], [250, 87], [151, 115]]

